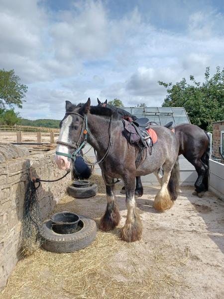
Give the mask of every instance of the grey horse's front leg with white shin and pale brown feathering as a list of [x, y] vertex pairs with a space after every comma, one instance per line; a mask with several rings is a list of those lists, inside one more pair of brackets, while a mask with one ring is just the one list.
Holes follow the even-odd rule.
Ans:
[[138, 215], [135, 199], [135, 177], [128, 177], [124, 180], [126, 190], [127, 219], [124, 227], [121, 229], [121, 239], [127, 242], [133, 242], [141, 239], [142, 224]]

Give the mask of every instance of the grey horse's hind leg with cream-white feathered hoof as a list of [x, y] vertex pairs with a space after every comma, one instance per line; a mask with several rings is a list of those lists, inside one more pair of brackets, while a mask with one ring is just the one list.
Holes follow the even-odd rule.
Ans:
[[171, 199], [168, 183], [170, 179], [171, 171], [165, 171], [162, 179], [162, 187], [159, 192], [156, 194], [154, 201], [154, 208], [159, 211], [164, 211], [170, 209], [173, 206], [173, 201]]

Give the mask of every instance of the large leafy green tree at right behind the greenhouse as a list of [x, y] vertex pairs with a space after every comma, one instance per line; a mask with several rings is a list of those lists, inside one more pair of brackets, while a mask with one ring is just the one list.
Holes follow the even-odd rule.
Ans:
[[205, 82], [197, 82], [190, 76], [192, 84], [183, 78], [180, 82], [158, 83], [167, 88], [162, 107], [184, 107], [192, 124], [212, 131], [212, 123], [224, 120], [224, 69], [217, 71], [210, 78], [210, 68], [206, 68]]

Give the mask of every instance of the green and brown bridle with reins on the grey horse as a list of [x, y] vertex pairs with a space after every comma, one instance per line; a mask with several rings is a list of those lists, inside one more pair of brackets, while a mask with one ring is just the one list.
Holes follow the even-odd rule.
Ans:
[[[69, 143], [62, 142], [62, 141], [57, 141], [56, 143], [59, 144], [59, 145], [63, 145], [63, 146], [73, 148], [73, 149], [75, 149], [75, 151], [73, 151], [73, 153], [64, 153], [64, 152], [60, 152], [60, 151], [56, 150], [56, 154], [69, 157], [73, 160], [73, 162], [75, 162], [77, 153], [85, 147], [85, 145], [87, 144], [87, 136], [88, 136], [88, 134], [91, 134], [91, 132], [88, 128], [88, 119], [87, 119], [86, 114], [85, 114], [85, 116], [82, 116], [81, 114], [79, 114], [77, 112], [66, 112], [65, 115], [71, 115], [71, 114], [78, 115], [83, 119], [82, 130], [81, 130], [81, 133], [80, 133], [79, 140], [75, 144], [69, 144]], [[100, 161], [96, 161], [94, 163], [90, 163], [90, 162], [88, 162], [87, 160], [84, 159], [84, 162], [86, 164], [88, 164], [90, 166], [93, 166], [93, 165], [102, 163], [107, 158], [107, 156], [110, 152], [110, 149], [111, 149], [111, 145], [112, 145], [112, 135], [111, 135], [111, 133], [112, 133], [112, 116], [111, 116], [111, 120], [110, 120], [109, 130], [110, 130], [109, 131], [109, 145], [108, 145], [108, 149], [107, 149], [105, 155], [103, 156], [103, 158]], [[81, 144], [83, 136], [85, 136], [85, 138], [84, 138], [84, 141]]]

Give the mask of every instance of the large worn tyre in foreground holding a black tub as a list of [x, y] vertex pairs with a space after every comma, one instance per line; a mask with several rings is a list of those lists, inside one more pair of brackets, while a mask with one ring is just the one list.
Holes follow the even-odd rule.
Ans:
[[80, 216], [82, 229], [73, 234], [57, 234], [52, 230], [52, 221], [43, 224], [42, 247], [47, 251], [68, 253], [80, 250], [90, 245], [96, 238], [97, 225], [92, 219]]

